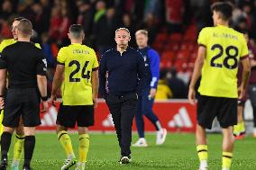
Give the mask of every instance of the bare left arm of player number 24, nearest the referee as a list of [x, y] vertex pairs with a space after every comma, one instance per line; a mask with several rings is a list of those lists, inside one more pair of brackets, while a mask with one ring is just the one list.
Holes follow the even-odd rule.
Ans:
[[56, 67], [56, 71], [53, 77], [53, 82], [52, 82], [52, 90], [51, 90], [51, 96], [50, 96], [50, 100], [54, 100], [57, 94], [57, 91], [59, 89], [59, 87], [62, 84], [62, 75], [64, 73], [64, 65], [58, 64]]

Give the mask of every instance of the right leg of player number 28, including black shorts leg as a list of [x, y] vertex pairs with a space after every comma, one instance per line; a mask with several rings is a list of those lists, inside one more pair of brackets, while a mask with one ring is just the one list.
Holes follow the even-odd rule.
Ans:
[[237, 99], [222, 98], [222, 105], [217, 115], [223, 129], [223, 170], [229, 170], [233, 158], [233, 125], [237, 124]]

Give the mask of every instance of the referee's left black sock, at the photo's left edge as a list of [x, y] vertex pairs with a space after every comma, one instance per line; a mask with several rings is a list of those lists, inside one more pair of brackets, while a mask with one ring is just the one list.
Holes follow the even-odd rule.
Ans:
[[12, 134], [9, 132], [4, 131], [1, 136], [1, 154], [2, 160], [7, 159], [7, 153], [9, 151], [10, 145], [12, 140]]

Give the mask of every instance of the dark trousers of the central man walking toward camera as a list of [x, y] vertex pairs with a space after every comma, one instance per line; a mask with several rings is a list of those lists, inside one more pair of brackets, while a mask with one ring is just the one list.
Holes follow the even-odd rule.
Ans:
[[105, 100], [116, 131], [121, 156], [128, 157], [131, 154], [133, 118], [137, 112], [137, 94], [114, 95], [108, 94]]

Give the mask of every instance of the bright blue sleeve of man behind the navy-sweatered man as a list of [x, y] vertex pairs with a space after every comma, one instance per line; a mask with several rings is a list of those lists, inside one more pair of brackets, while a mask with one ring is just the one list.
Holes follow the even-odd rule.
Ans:
[[150, 49], [148, 51], [151, 67], [151, 88], [157, 88], [160, 76], [160, 57], [157, 51]]

